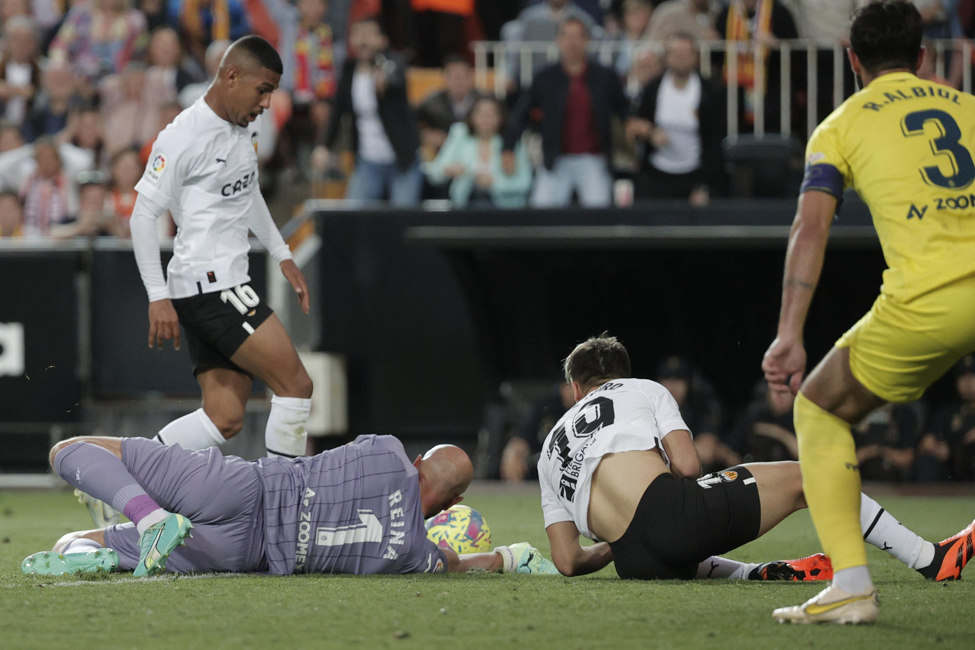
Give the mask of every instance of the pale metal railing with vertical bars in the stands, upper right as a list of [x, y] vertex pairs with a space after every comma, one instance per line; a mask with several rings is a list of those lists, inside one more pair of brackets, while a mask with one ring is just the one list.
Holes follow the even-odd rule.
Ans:
[[[738, 61], [741, 55], [751, 55], [755, 62], [754, 88], [755, 101], [752, 125], [756, 135], [767, 133], [769, 116], [766, 114], [766, 63], [773, 54], [778, 54], [778, 124], [776, 133], [796, 135], [806, 138], [825, 115], [817, 115], [819, 93], [823, 90], [820, 85], [820, 63], [825, 57], [831, 63], [832, 76], [832, 105], [839, 106], [844, 96], [844, 77], [848, 62], [846, 52], [838, 43], [828, 43], [809, 39], [783, 40], [772, 46], [762, 46], [758, 43], [744, 41], [699, 41], [701, 61], [701, 76], [704, 78], [722, 77], [727, 80], [727, 133], [731, 138], [739, 134], [741, 94], [744, 89], [738, 79]], [[471, 46], [474, 50], [475, 71], [478, 86], [490, 87], [495, 96], [502, 97], [509, 90], [509, 82], [517, 81], [522, 87], [531, 84], [531, 77], [541, 63], [551, 63], [559, 58], [559, 51], [555, 43], [549, 41], [478, 41]], [[960, 63], [953, 65], [953, 71], [960, 67], [959, 87], [964, 93], [972, 90], [972, 50], [975, 48], [967, 40], [939, 40], [931, 46], [936, 57], [934, 74], [939, 78], [946, 78], [949, 60]], [[616, 57], [624, 51], [632, 56], [631, 60], [642, 56], [644, 52], [663, 55], [662, 42], [646, 41], [636, 49], [620, 41], [593, 41], [589, 45], [592, 57], [605, 65], [611, 65]], [[932, 53], [929, 53], [930, 56]], [[734, 56], [730, 56], [734, 55]], [[804, 71], [801, 63], [805, 63]], [[724, 68], [722, 70], [722, 67]], [[493, 70], [493, 77], [490, 72]], [[805, 88], [797, 88], [800, 79], [795, 79], [797, 73], [805, 77]], [[804, 91], [806, 95], [805, 124], [803, 133], [793, 133], [793, 111], [795, 109], [793, 97]]]

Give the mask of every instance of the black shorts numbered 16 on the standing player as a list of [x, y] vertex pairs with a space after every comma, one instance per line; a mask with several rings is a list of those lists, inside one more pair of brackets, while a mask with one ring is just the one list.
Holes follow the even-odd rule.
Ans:
[[217, 367], [251, 375], [230, 358], [274, 311], [250, 285], [176, 298], [173, 306], [186, 334], [194, 375]]

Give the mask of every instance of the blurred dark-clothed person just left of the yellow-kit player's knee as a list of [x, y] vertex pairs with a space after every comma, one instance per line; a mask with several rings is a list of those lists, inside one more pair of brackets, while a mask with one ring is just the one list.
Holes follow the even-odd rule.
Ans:
[[745, 460], [749, 463], [798, 460], [792, 393], [774, 391], [764, 380], [756, 385], [755, 393], [734, 433], [734, 439], [744, 448]]

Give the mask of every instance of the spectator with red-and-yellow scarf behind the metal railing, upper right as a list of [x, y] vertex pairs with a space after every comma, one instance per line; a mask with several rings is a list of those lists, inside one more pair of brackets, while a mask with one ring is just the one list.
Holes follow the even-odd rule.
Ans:
[[[796, 20], [779, 0], [731, 0], [719, 14], [718, 31], [725, 40], [757, 43], [764, 62], [757, 74], [755, 48], [748, 47], [737, 55], [737, 79], [742, 102], [741, 131], [750, 132], [755, 124], [755, 107], [764, 94], [765, 132], [780, 131], [780, 73], [782, 56], [776, 49], [782, 39], [798, 38]], [[789, 61], [784, 64], [788, 65]], [[724, 62], [727, 82], [728, 64]], [[794, 113], [795, 114], [795, 113]]]

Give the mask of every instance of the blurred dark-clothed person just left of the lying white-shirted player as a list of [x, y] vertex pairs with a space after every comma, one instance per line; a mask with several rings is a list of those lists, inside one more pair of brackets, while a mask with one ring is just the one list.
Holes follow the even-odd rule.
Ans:
[[501, 479], [519, 482], [538, 478], [538, 454], [549, 432], [565, 411], [572, 407], [572, 387], [562, 383], [531, 406], [527, 417], [512, 434], [501, 452]]

